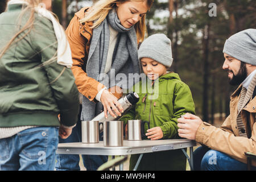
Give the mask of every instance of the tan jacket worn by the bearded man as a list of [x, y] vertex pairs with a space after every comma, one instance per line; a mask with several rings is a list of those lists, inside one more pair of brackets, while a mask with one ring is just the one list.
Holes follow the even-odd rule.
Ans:
[[[256, 154], [256, 97], [250, 99], [241, 110], [242, 121], [246, 128], [247, 137], [240, 137], [237, 127], [237, 105], [242, 85], [230, 97], [230, 115], [225, 119], [221, 128], [203, 122], [196, 132], [196, 142], [204, 144], [213, 150], [224, 152], [232, 158], [246, 163], [245, 152]], [[251, 162], [256, 166], [256, 160]]]

